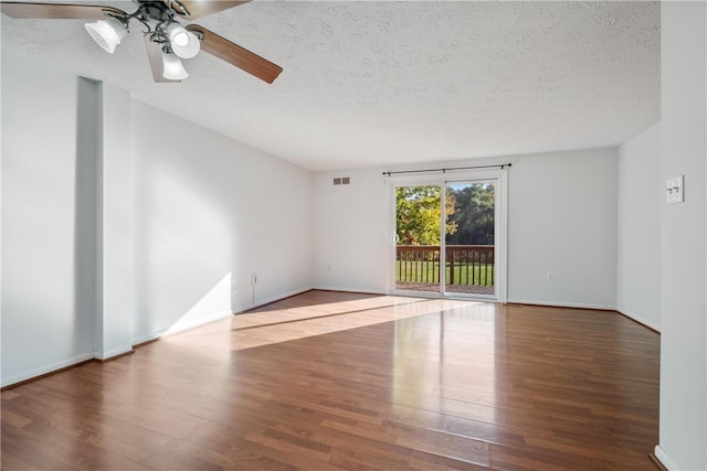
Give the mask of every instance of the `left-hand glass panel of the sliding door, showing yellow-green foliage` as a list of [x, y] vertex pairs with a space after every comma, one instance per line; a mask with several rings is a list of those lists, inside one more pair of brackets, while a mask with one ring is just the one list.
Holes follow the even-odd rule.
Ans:
[[395, 186], [395, 290], [440, 291], [442, 186]]

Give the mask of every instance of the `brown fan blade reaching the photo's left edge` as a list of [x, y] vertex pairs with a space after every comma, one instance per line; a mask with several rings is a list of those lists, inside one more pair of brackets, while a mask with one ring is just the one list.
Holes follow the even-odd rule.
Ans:
[[104, 12], [127, 14], [125, 11], [113, 7], [99, 7], [94, 4], [68, 3], [21, 3], [0, 2], [0, 11], [11, 18], [22, 19], [53, 19], [53, 20], [102, 20]]

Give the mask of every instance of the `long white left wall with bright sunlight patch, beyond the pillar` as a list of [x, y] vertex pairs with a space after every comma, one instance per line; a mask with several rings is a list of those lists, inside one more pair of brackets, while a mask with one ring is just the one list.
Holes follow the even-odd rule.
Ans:
[[131, 124], [134, 341], [310, 288], [310, 172], [138, 101]]

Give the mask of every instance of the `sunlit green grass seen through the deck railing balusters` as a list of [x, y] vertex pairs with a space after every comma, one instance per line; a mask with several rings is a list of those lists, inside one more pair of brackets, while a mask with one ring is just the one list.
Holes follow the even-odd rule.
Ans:
[[[403, 264], [403, 266], [405, 265]], [[493, 268], [493, 264], [455, 264], [453, 285], [494, 286]], [[408, 261], [402, 274], [400, 270], [400, 260], [395, 263], [395, 281], [436, 283], [440, 282], [439, 272], [439, 261]], [[450, 283], [451, 278], [449, 264], [446, 266], [445, 274], [445, 279], [447, 280], [447, 283]]]

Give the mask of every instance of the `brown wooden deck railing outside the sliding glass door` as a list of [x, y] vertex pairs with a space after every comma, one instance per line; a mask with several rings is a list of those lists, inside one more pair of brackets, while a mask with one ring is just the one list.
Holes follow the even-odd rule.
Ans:
[[[450, 245], [445, 258], [446, 285], [494, 286], [493, 245]], [[395, 259], [398, 282], [440, 283], [439, 245], [399, 245]]]

